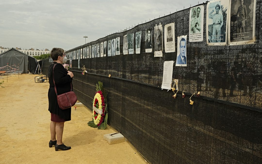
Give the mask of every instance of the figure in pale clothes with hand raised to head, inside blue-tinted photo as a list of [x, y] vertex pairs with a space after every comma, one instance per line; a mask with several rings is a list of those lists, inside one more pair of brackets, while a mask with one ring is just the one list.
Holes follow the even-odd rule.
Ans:
[[212, 32], [212, 43], [220, 42], [221, 41], [221, 28], [223, 26], [223, 15], [219, 13], [220, 5], [217, 4], [215, 7], [216, 13], [213, 14], [214, 9], [212, 12], [209, 13], [209, 18], [213, 19], [213, 32]]

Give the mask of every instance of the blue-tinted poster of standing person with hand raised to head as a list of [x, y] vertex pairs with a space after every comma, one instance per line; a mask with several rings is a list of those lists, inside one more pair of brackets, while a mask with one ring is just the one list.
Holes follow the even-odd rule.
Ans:
[[208, 2], [206, 9], [206, 40], [208, 45], [226, 45], [228, 0]]

